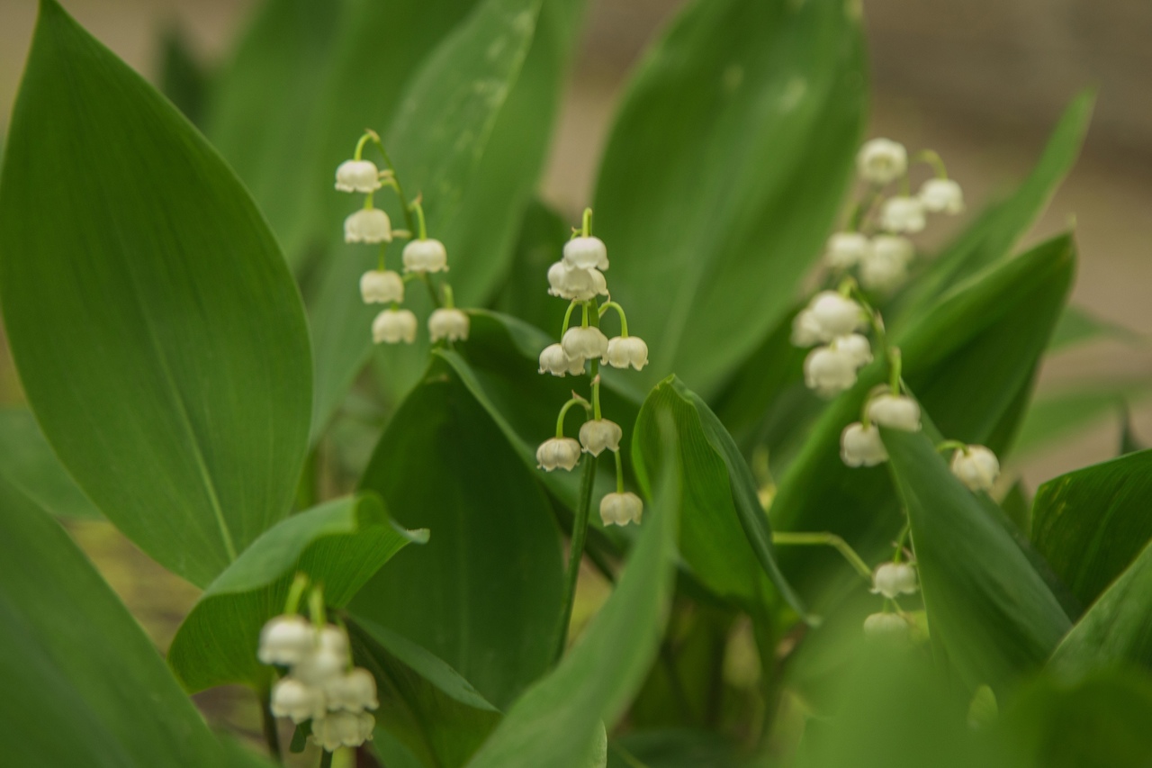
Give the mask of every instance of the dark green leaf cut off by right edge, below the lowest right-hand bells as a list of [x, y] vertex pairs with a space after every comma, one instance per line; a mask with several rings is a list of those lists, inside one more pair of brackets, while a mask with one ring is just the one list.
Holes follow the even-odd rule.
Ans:
[[1152, 539], [1152, 451], [1092, 465], [1040, 485], [1032, 541], [1085, 605]]

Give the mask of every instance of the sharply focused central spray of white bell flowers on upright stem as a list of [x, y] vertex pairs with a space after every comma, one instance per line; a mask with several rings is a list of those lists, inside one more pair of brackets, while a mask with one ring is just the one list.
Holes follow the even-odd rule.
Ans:
[[[592, 378], [591, 402], [573, 393], [573, 398], [560, 409], [556, 419], [556, 436], [545, 441], [536, 451], [540, 468], [571, 470], [583, 453], [593, 457], [612, 451], [616, 460], [616, 491], [600, 499], [600, 518], [605, 525], [628, 525], [639, 522], [644, 512], [641, 498], [624, 491], [623, 462], [620, 457], [620, 441], [623, 430], [620, 424], [600, 414], [600, 366], [634, 368], [641, 370], [647, 364], [647, 345], [643, 339], [628, 333], [628, 318], [615, 301], [600, 303], [598, 296], [608, 296], [608, 284], [604, 272], [608, 269], [608, 249], [604, 241], [591, 234], [592, 211], [584, 211], [582, 229], [573, 233], [564, 244], [563, 257], [548, 268], [548, 293], [570, 301], [564, 315], [560, 342], [547, 346], [540, 353], [540, 372], [553, 376], [582, 376]], [[569, 326], [573, 313], [581, 311], [581, 324]], [[609, 309], [620, 316], [620, 336], [609, 339], [600, 330], [600, 318]], [[579, 441], [564, 437], [564, 416], [573, 406], [582, 406], [591, 416], [579, 428]]]

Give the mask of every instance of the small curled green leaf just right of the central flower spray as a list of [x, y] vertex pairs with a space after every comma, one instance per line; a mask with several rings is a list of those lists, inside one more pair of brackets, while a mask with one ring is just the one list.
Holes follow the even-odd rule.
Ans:
[[[667, 422], [674, 427], [679, 454], [666, 447]], [[682, 479], [680, 551], [706, 587], [753, 612], [771, 610], [775, 587], [804, 613], [776, 566], [772, 530], [752, 473], [720, 420], [675, 376], [658, 384], [644, 401], [632, 460], [642, 485], [665, 473]]]

